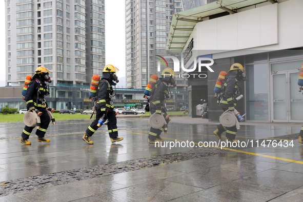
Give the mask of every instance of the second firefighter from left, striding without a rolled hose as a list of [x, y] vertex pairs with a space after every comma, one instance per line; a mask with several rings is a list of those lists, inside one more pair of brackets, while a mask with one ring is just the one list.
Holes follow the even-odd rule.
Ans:
[[106, 65], [103, 69], [102, 79], [100, 80], [98, 86], [99, 91], [97, 93], [95, 105], [96, 119], [93, 120], [82, 137], [82, 139], [90, 145], [94, 144], [90, 137], [98, 129], [98, 121], [104, 114], [106, 114], [105, 118], [108, 120], [107, 128], [111, 142], [115, 143], [123, 140], [123, 137], [118, 137], [117, 118], [115, 116], [115, 111], [113, 110], [113, 103], [111, 102], [111, 97], [113, 94], [112, 86], [115, 86], [116, 83], [119, 82], [118, 77], [116, 76], [116, 72], [118, 71], [118, 68], [114, 67], [113, 65]]

